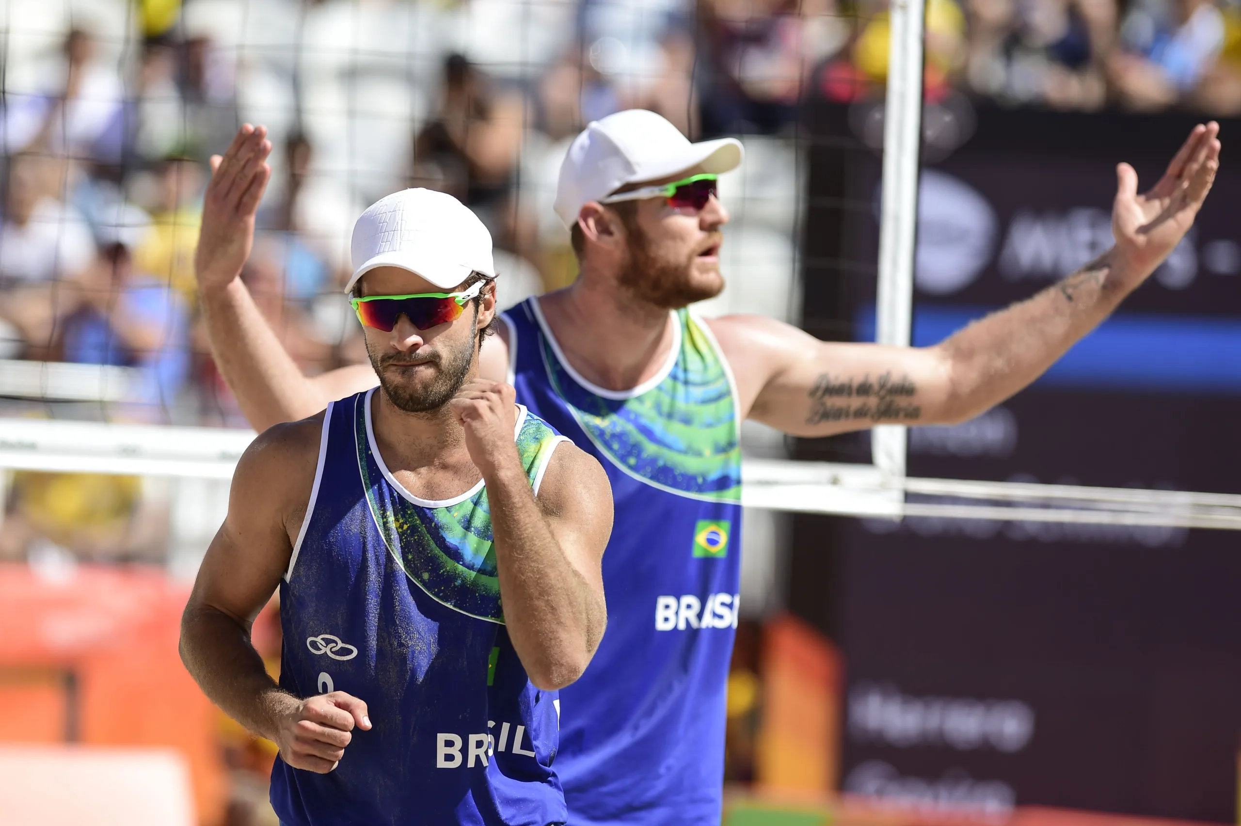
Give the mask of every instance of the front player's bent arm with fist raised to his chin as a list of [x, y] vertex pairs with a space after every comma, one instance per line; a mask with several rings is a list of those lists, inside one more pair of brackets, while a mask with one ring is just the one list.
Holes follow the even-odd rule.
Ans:
[[535, 499], [513, 442], [514, 391], [474, 381], [452, 401], [486, 481], [504, 621], [530, 681], [546, 691], [577, 680], [603, 636], [603, 548], [612, 487], [572, 444], [550, 459]]

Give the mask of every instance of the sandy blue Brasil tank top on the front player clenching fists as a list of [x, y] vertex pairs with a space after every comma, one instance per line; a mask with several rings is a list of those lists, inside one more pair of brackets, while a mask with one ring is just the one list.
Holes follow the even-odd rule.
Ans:
[[[280, 686], [366, 701], [336, 769], [277, 760], [285, 826], [566, 821], [552, 770], [560, 703], [526, 677], [504, 628], [480, 481], [450, 500], [406, 491], [371, 429], [376, 391], [324, 414], [310, 504], [280, 583]], [[565, 437], [519, 406], [535, 495]]]

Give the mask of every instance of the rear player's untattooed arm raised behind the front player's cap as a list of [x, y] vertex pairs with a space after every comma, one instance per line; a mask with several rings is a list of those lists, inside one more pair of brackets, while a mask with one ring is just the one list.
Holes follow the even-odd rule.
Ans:
[[377, 383], [365, 365], [316, 378], [303, 376], [241, 282], [254, 243], [254, 213], [272, 176], [271, 151], [267, 129], [244, 124], [228, 151], [212, 156], [194, 255], [211, 353], [246, 419], [259, 432], [314, 415], [329, 401]]

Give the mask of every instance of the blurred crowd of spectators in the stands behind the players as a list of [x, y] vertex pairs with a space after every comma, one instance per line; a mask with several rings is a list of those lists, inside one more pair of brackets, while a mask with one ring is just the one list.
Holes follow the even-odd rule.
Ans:
[[[567, 141], [620, 108], [787, 136], [808, 94], [880, 94], [884, 0], [11, 0], [2, 21], [0, 357], [134, 368], [130, 418], [238, 423], [195, 324], [212, 153], [264, 123], [243, 273], [309, 371], [362, 357], [347, 233], [406, 185], [503, 251], [509, 300], [567, 283]], [[1241, 112], [1237, 0], [928, 0], [927, 88], [1001, 104]], [[330, 298], [328, 298], [330, 296]]]

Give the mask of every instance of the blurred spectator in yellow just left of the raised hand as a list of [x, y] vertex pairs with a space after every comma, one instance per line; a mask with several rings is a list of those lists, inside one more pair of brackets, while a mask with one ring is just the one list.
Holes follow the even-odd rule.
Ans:
[[197, 301], [194, 249], [199, 244], [205, 184], [202, 167], [192, 159], [168, 158], [159, 167], [150, 203], [151, 229], [134, 251], [138, 269], [175, 289], [187, 306]]

